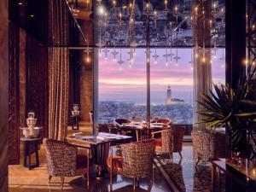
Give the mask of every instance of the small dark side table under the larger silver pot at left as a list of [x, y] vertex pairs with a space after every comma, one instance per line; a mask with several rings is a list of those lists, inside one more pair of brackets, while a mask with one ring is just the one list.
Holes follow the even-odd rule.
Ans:
[[[26, 138], [21, 137], [20, 141], [24, 143], [24, 163], [23, 166], [28, 167], [29, 170], [32, 168], [39, 166], [39, 156], [38, 156], [38, 144], [40, 143], [41, 138]], [[36, 163], [32, 164], [31, 162], [31, 155], [36, 154]], [[26, 162], [28, 157], [28, 163]]]

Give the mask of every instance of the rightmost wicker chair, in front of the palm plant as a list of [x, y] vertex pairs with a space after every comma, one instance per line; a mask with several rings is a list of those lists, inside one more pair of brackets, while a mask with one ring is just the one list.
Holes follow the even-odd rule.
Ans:
[[225, 137], [222, 134], [211, 131], [192, 131], [191, 132], [195, 166], [199, 161], [207, 162], [224, 157]]

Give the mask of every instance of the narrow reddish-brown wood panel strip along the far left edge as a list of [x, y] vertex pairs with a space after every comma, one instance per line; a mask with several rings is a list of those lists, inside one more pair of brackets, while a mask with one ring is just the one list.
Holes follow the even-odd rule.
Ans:
[[9, 49], [8, 49], [8, 1], [0, 1], [0, 191], [8, 192], [8, 82], [9, 82]]

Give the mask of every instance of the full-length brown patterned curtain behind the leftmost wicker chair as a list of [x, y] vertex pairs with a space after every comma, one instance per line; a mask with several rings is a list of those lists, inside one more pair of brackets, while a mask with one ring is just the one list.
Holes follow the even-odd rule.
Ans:
[[68, 84], [68, 49], [49, 48], [49, 138], [67, 136]]

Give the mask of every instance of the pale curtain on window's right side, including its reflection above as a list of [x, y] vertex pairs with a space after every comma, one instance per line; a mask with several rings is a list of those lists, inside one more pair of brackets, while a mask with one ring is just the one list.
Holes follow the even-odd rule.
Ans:
[[[194, 48], [194, 125], [201, 121], [201, 115], [198, 114], [202, 101], [201, 94], [209, 93], [212, 90], [212, 56], [211, 56], [211, 29], [212, 24], [212, 0], [194, 1], [196, 9], [193, 11], [193, 38], [195, 42]], [[204, 125], [195, 126], [202, 128]]]

